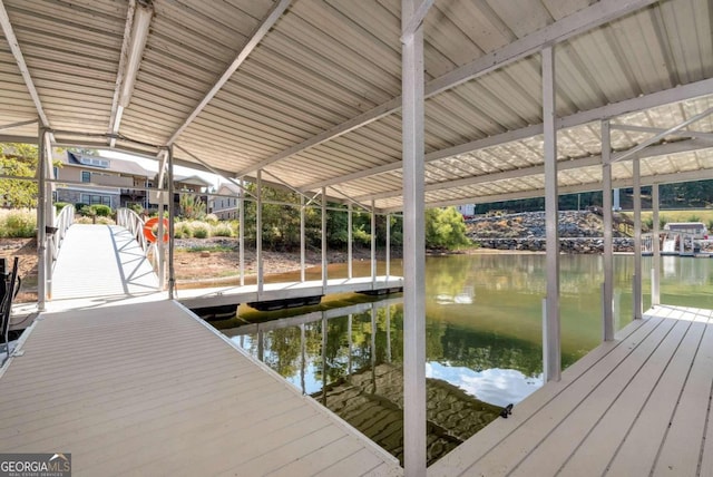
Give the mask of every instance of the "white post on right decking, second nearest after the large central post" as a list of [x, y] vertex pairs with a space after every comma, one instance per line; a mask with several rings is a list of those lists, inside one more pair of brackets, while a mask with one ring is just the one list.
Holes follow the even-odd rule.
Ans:
[[545, 220], [547, 296], [543, 317], [543, 369], [545, 382], [559, 381], [559, 236], [557, 233], [557, 130], [555, 129], [555, 52], [543, 50], [543, 119], [545, 132]]

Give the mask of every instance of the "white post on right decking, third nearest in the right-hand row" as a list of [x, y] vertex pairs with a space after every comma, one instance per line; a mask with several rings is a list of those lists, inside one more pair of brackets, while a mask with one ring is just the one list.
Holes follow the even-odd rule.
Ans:
[[609, 121], [602, 121], [602, 208], [604, 214], [604, 283], [602, 283], [602, 340], [614, 339], [614, 243], [612, 217], [612, 144]]

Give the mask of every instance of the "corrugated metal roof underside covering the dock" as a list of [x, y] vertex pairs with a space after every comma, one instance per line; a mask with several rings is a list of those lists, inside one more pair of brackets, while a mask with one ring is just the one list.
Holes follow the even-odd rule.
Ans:
[[[39, 116], [59, 144], [146, 155], [173, 145], [177, 164], [262, 169], [266, 182], [402, 208], [400, 0], [148, 3], [118, 114], [134, 2], [3, 0], [2, 137], [36, 137], [28, 121]], [[545, 46], [560, 193], [600, 188], [602, 119], [625, 150], [713, 106], [710, 10], [709, 0], [437, 0], [423, 22], [427, 205], [543, 195]], [[105, 137], [113, 127], [116, 140]], [[638, 155], [643, 183], [712, 177], [712, 137], [707, 116], [656, 138]], [[613, 177], [631, 185], [631, 157]]]

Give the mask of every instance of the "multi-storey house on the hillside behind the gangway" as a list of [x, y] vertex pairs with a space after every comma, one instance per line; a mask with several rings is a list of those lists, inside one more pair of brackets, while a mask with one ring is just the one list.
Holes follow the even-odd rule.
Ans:
[[148, 207], [145, 188], [153, 186], [154, 173], [137, 163], [71, 150], [56, 159], [61, 166], [53, 168], [53, 177], [59, 181], [52, 193], [55, 202], [104, 204], [111, 208], [134, 204]]

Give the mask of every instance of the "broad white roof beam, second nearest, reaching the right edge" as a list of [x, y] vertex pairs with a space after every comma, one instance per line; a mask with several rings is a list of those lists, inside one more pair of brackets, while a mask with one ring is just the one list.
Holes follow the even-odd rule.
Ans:
[[[602, 106], [598, 108], [589, 109], [586, 111], [575, 113], [569, 116], [561, 117], [555, 121], [556, 128], [567, 129], [575, 126], [582, 126], [583, 124], [614, 118], [616, 116], [635, 113], [643, 109], [655, 108], [657, 106], [667, 105], [671, 103], [683, 101], [686, 99], [695, 98], [699, 96], [710, 95], [713, 91], [713, 79], [704, 79], [697, 82], [691, 82], [684, 86], [678, 86], [663, 91], [653, 93], [646, 96], [639, 96], [632, 99], [625, 99], [619, 103], [613, 103], [611, 105]], [[424, 157], [426, 163], [433, 160], [445, 159], [447, 157], [458, 156], [460, 154], [472, 153], [473, 150], [484, 149], [487, 147], [494, 147], [515, 140], [526, 139], [528, 137], [543, 134], [543, 125], [536, 124], [526, 126], [520, 129], [509, 130], [507, 133], [497, 134], [495, 136], [485, 137], [482, 139], [471, 140], [469, 143], [460, 144], [458, 146], [448, 147], [446, 149], [432, 150]], [[301, 187], [302, 191], [312, 191], [319, 187], [329, 187], [334, 184], [340, 184], [350, 181], [356, 181], [363, 177], [384, 174], [401, 168], [401, 162], [394, 162], [384, 164], [382, 166], [373, 167], [367, 171], [359, 171], [353, 174], [344, 175], [336, 178], [325, 179], [307, 184]]]

